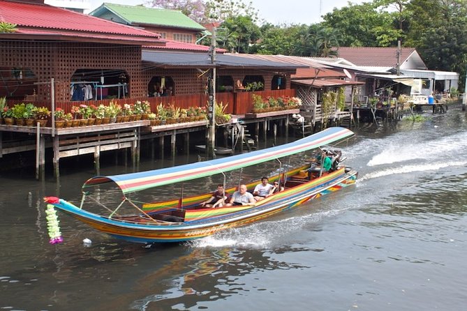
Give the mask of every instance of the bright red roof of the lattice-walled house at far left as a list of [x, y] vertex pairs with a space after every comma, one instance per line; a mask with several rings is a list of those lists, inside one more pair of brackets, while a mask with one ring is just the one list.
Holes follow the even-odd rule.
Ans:
[[[32, 4], [0, 0], [0, 21], [17, 24], [18, 32], [26, 31], [31, 33], [34, 29], [36, 33], [61, 33], [69, 36], [71, 33], [80, 33], [82, 37], [103, 38], [108, 35], [120, 36], [120, 40], [154, 40], [157, 41], [159, 35], [131, 26], [117, 24], [97, 17], [84, 15], [81, 13], [47, 6], [46, 4]], [[28, 29], [28, 30], [25, 30]]]

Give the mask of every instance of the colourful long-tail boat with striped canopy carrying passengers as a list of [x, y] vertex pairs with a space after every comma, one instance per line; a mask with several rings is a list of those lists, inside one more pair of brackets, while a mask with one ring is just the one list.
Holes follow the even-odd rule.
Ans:
[[[288, 208], [334, 192], [355, 183], [357, 172], [342, 163], [333, 163], [329, 172], [320, 171], [317, 176], [307, 174], [310, 164], [300, 158], [297, 167], [283, 165], [283, 158], [321, 149], [352, 137], [354, 133], [346, 128], [327, 128], [322, 132], [304, 137], [295, 142], [274, 146], [268, 149], [232, 155], [227, 158], [195, 162], [176, 167], [155, 169], [147, 172], [121, 174], [114, 176], [95, 176], [82, 186], [82, 199], [79, 206], [64, 199], [49, 197], [52, 204], [65, 213], [87, 223], [95, 229], [110, 234], [115, 238], [139, 243], [160, 243], [188, 241], [212, 235], [221, 230], [247, 225], [274, 215]], [[240, 172], [238, 185], [225, 188], [225, 195], [231, 195], [242, 183], [243, 169], [263, 162], [279, 165], [269, 182], [280, 181], [283, 191], [270, 195], [253, 206], [226, 206], [207, 208], [201, 205], [212, 193], [189, 195], [186, 188], [193, 189], [193, 181], [206, 179], [207, 176], [219, 176], [226, 185], [225, 173]], [[258, 176], [260, 177], [260, 176]], [[189, 187], [184, 183], [191, 181]], [[236, 181], [235, 181], [236, 182]], [[246, 183], [249, 191], [253, 190], [260, 178]], [[230, 183], [233, 183], [230, 181]], [[205, 182], [203, 181], [205, 185]], [[113, 190], [104, 190], [112, 185]], [[175, 195], [173, 187], [180, 186], [181, 191], [174, 199], [168, 199], [168, 193]], [[154, 190], [158, 188], [158, 190]], [[167, 190], [165, 188], [170, 188]], [[164, 191], [165, 189], [165, 191]], [[118, 192], [115, 192], [117, 190]], [[163, 196], [156, 201], [142, 200], [142, 192], [150, 190], [151, 198]], [[117, 195], [119, 193], [119, 195]], [[185, 193], [187, 193], [185, 195]], [[123, 195], [121, 199], [120, 195]], [[112, 202], [113, 200], [113, 202]], [[114, 204], [110, 208], [109, 202]], [[84, 206], [87, 206], [84, 208]], [[94, 211], [98, 208], [98, 211]]]

